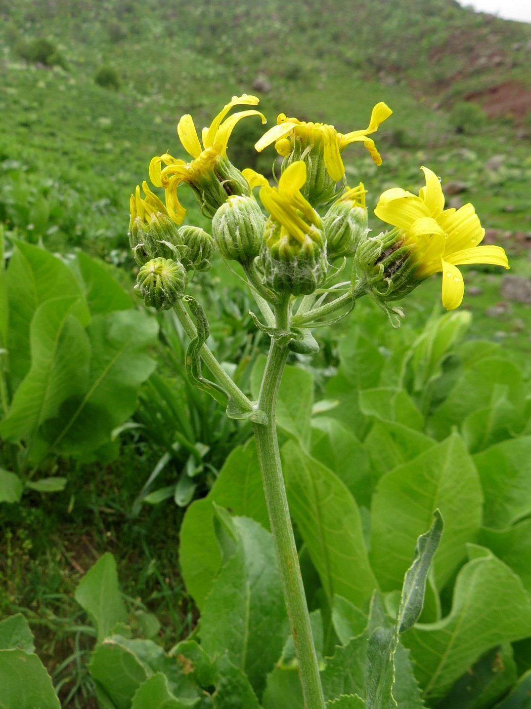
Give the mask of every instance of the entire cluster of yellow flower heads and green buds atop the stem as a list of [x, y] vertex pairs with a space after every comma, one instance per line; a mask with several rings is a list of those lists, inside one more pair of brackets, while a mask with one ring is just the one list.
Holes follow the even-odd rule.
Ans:
[[[239, 262], [253, 287], [272, 303], [324, 288], [338, 270], [333, 262], [346, 257], [353, 257], [352, 292], [370, 293], [384, 307], [442, 272], [442, 303], [456, 308], [464, 291], [457, 265], [508, 267], [503, 249], [478, 247], [484, 230], [472, 205], [444, 209], [440, 180], [427, 168], [426, 186], [418, 196], [400, 188], [382, 194], [375, 214], [392, 228], [370, 235], [366, 190], [361, 182], [346, 187], [341, 153], [361, 141], [376, 164], [382, 163], [368, 135], [392, 113], [383, 102], [373, 108], [367, 128], [346, 134], [333, 125], [305, 123], [281, 113], [277, 125], [256, 143], [258, 151], [274, 143], [284, 158], [277, 186], [251, 169], [240, 172], [227, 157], [236, 123], [249, 116], [265, 122], [254, 109], [229, 115], [239, 104], [256, 106], [258, 99], [234, 96], [202, 130], [202, 144], [191, 116], [181, 118], [178, 135], [193, 160], [187, 163], [165, 153], [149, 166], [153, 184], [165, 190], [166, 204], [145, 182], [144, 198], [139, 187], [131, 197], [130, 244], [141, 266], [137, 291], [149, 305], [171, 307], [183, 296], [187, 272], [210, 268], [215, 247], [225, 261]], [[190, 186], [202, 213], [212, 219], [213, 238], [182, 225], [185, 209], [177, 199], [181, 183]], [[262, 206], [255, 187], [260, 187]]]

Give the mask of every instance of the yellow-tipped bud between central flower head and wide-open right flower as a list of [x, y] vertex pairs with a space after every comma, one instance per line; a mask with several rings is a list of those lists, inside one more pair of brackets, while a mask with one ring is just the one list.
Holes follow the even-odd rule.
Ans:
[[336, 200], [324, 216], [326, 254], [330, 262], [353, 255], [360, 241], [365, 239], [368, 232], [365, 194], [360, 182], [358, 187], [349, 189]]

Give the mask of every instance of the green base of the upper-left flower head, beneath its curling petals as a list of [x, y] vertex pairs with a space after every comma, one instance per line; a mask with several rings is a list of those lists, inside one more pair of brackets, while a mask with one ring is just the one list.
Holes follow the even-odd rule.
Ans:
[[[212, 152], [212, 155], [210, 155]], [[229, 197], [251, 196], [249, 182], [243, 174], [234, 167], [225, 155], [219, 155], [214, 148], [205, 150], [197, 160], [198, 165], [188, 184], [197, 197], [202, 213], [212, 219], [217, 210]]]

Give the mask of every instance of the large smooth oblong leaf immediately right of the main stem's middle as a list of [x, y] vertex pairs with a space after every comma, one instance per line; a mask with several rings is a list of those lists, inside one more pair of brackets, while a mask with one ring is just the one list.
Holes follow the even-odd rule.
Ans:
[[363, 541], [360, 513], [345, 484], [295, 442], [281, 451], [290, 510], [330, 601], [337, 593], [355, 605], [376, 586]]

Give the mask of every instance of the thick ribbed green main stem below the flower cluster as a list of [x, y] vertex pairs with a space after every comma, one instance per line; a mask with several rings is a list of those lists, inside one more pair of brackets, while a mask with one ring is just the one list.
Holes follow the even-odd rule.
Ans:
[[[288, 320], [287, 303], [284, 303], [282, 307], [275, 308], [275, 311], [277, 327], [285, 328]], [[287, 506], [275, 427], [275, 404], [287, 354], [287, 342], [271, 341], [258, 401], [259, 408], [268, 417], [268, 423], [267, 425], [254, 423], [253, 429], [287, 616], [290, 619], [295, 652], [299, 662], [304, 709], [323, 709], [324, 696], [319, 676], [319, 664], [309, 621], [306, 596], [304, 595], [290, 510]]]

